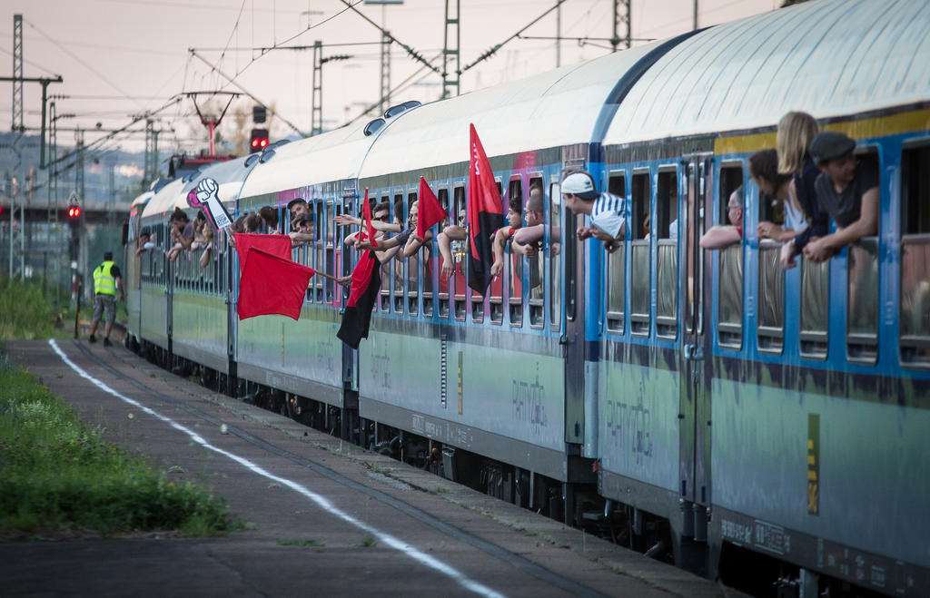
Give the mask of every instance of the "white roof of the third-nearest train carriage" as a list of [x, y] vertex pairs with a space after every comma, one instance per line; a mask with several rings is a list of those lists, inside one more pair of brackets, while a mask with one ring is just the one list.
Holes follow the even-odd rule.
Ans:
[[[259, 164], [246, 179], [243, 197], [358, 176], [358, 165], [378, 134], [365, 136], [366, 123], [354, 123], [322, 135], [288, 143], [275, 150], [272, 160]], [[309, 197], [309, 189], [306, 195]]]

